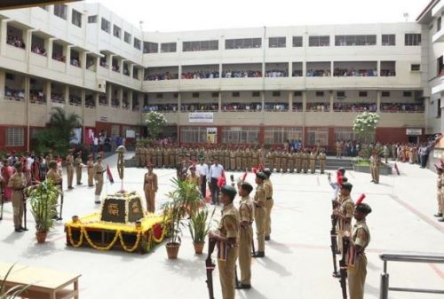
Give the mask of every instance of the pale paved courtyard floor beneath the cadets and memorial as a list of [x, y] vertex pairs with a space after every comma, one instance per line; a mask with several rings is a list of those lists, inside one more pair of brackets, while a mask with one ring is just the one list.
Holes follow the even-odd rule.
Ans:
[[[108, 193], [120, 187], [115, 160], [116, 156], [112, 156], [105, 161], [115, 177], [115, 184], [107, 185]], [[368, 216], [371, 242], [367, 250], [369, 265], [365, 298], [369, 299], [378, 298], [379, 294], [383, 265], [379, 259], [380, 253], [444, 252], [444, 224], [432, 216], [437, 209], [436, 175], [430, 170], [419, 169], [417, 165], [398, 165], [400, 176], [381, 177], [379, 185], [369, 182], [369, 174], [353, 171], [346, 174], [354, 186], [353, 199], [365, 193], [365, 201], [373, 209]], [[125, 169], [125, 189], [143, 194], [145, 172], [146, 169]], [[164, 194], [171, 190], [170, 178], [175, 176], [175, 170], [155, 169], [155, 172], [159, 177], [156, 201], [157, 207], [160, 207], [165, 201]], [[227, 173], [228, 176], [230, 174]], [[236, 178], [241, 175], [234, 173]], [[250, 174], [247, 180], [254, 183], [254, 176]], [[327, 176], [274, 174], [272, 180], [275, 199], [272, 240], [266, 243], [266, 258], [253, 260], [253, 288], [238, 291], [236, 297], [341, 298], [339, 282], [331, 277], [329, 215], [332, 190]], [[83, 185], [65, 193], [65, 219], [90, 214], [98, 209], [93, 202], [94, 189], [85, 184], [83, 172]], [[68, 248], [63, 223], [56, 224], [44, 245], [37, 245], [30, 214], [29, 232], [15, 233], [12, 226], [12, 206], [7, 203], [4, 220], [0, 223], [0, 261], [81, 273], [80, 298], [208, 298], [205, 255], [194, 255], [192, 241], [186, 231], [178, 260], [170, 261], [163, 244], [143, 256], [121, 251]], [[393, 287], [442, 289], [444, 286], [442, 264], [391, 263], [388, 271]], [[215, 298], [221, 298], [217, 270], [213, 272], [213, 279]], [[389, 297], [421, 299], [439, 298], [440, 295], [391, 292]]]

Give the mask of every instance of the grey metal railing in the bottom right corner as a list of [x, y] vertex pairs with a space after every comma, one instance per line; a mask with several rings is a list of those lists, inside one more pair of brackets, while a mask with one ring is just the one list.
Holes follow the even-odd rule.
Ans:
[[404, 255], [383, 253], [379, 255], [379, 257], [384, 261], [384, 272], [381, 274], [379, 299], [387, 299], [388, 291], [444, 294], [444, 289], [438, 290], [425, 288], [389, 287], [389, 274], [387, 273], [387, 262], [444, 264], [444, 255]]

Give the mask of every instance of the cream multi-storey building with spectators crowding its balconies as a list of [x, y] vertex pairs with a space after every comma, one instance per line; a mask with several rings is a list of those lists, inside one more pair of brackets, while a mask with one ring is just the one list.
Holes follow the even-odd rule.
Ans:
[[381, 142], [440, 131], [418, 23], [152, 33], [75, 3], [0, 12], [0, 29], [0, 149], [27, 148], [52, 106], [123, 136], [160, 111], [182, 143], [332, 148], [362, 111]]

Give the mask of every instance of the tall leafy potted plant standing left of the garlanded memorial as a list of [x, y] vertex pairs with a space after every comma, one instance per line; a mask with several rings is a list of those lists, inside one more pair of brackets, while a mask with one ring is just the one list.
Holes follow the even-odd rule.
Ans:
[[57, 216], [57, 198], [59, 187], [51, 180], [46, 180], [33, 186], [29, 191], [31, 213], [36, 220], [36, 238], [38, 243], [44, 243], [46, 235], [54, 225], [54, 216]]

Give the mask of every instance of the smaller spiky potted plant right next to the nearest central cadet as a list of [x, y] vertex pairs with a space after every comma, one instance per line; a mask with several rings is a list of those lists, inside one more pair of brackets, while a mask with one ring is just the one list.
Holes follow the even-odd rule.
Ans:
[[214, 211], [215, 209], [213, 209], [213, 212], [210, 215], [208, 209], [202, 209], [201, 211], [192, 214], [190, 217], [188, 228], [191, 233], [191, 239], [193, 239], [194, 252], [197, 255], [202, 255], [203, 246], [205, 245], [205, 237], [210, 231], [210, 223], [214, 216]]

